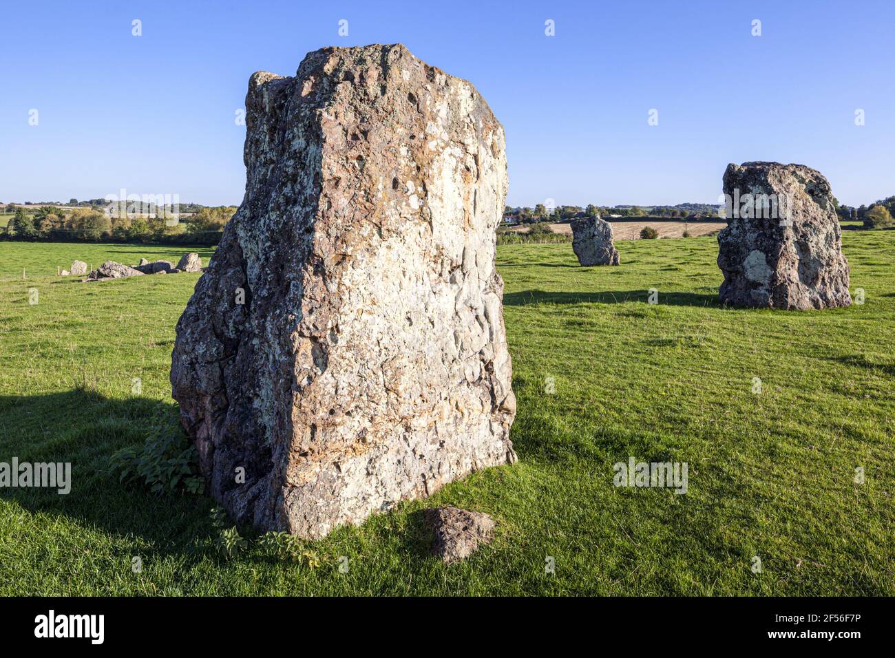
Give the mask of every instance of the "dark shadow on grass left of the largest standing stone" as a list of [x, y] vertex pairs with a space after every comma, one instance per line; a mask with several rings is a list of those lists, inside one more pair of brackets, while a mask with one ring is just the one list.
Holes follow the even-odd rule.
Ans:
[[[9, 463], [17, 457], [20, 463], [72, 465], [67, 494], [50, 488], [4, 487], [0, 499], [30, 512], [69, 517], [81, 526], [140, 536], [152, 543], [154, 552], [199, 550], [197, 541], [210, 543], [214, 532], [209, 521], [214, 502], [208, 496], [157, 495], [141, 486], [126, 486], [119, 483], [110, 463], [115, 451], [141, 446], [159, 428], [183, 432], [173, 402], [109, 398], [87, 389], [0, 396], [0, 461]], [[185, 447], [185, 435], [183, 441]]]

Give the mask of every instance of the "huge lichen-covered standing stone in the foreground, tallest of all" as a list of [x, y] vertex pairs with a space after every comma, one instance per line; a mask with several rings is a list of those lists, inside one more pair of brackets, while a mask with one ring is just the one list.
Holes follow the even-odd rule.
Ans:
[[515, 461], [484, 99], [403, 46], [329, 47], [253, 74], [246, 112], [243, 204], [172, 356], [212, 495], [320, 537]]

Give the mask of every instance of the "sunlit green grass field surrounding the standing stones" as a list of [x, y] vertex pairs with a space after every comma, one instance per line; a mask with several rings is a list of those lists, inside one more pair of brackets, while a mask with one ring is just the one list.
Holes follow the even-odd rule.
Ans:
[[[0, 460], [71, 461], [73, 479], [0, 490], [0, 594], [895, 594], [895, 231], [843, 241], [865, 303], [826, 312], [720, 308], [712, 237], [619, 242], [617, 268], [499, 247], [518, 464], [337, 530], [313, 569], [254, 544], [223, 560], [209, 498], [110, 469], [176, 422], [174, 327], [200, 275], [51, 275], [188, 250], [0, 243]], [[614, 487], [631, 456], [686, 462], [688, 491]], [[420, 510], [442, 504], [497, 517], [495, 542], [430, 557]]]

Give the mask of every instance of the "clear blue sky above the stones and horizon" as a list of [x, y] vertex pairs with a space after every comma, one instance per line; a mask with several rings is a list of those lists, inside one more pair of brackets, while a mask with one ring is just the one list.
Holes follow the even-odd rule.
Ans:
[[234, 113], [251, 73], [394, 42], [487, 98], [507, 130], [511, 205], [713, 202], [724, 167], [754, 159], [815, 167], [850, 205], [895, 194], [888, 0], [32, 0], [2, 16], [0, 201], [124, 187], [237, 204]]

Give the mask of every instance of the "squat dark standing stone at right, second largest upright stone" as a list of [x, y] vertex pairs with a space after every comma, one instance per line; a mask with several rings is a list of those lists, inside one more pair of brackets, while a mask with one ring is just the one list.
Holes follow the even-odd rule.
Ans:
[[721, 302], [792, 310], [851, 303], [839, 218], [820, 172], [778, 162], [730, 164], [724, 193]]

